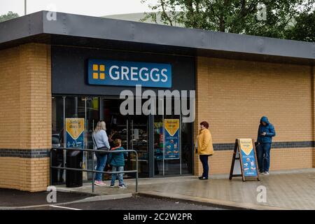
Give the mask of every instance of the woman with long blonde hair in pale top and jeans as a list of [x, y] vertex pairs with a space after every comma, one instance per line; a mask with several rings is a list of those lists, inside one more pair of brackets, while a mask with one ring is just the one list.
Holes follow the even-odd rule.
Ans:
[[[97, 150], [108, 151], [111, 147], [109, 146], [109, 137], [106, 134], [106, 123], [104, 121], [99, 121], [97, 123], [97, 127], [93, 132], [93, 140], [94, 145]], [[95, 153], [97, 157], [97, 171], [104, 171], [107, 162], [108, 153]], [[106, 184], [102, 181], [102, 173], [97, 173], [95, 175], [95, 182], [94, 184], [97, 186], [105, 186]]]

